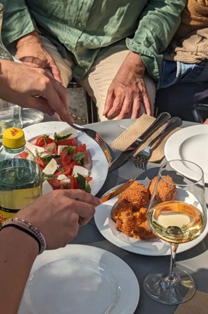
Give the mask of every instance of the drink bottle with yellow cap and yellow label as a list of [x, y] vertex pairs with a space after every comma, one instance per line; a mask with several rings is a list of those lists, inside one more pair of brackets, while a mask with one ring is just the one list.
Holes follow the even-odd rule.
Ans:
[[41, 194], [41, 171], [35, 156], [25, 147], [23, 130], [5, 130], [0, 149], [0, 228]]

